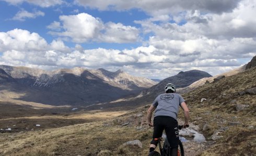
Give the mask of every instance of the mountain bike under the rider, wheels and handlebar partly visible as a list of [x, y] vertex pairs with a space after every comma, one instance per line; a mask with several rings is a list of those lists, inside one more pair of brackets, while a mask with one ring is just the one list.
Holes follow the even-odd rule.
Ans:
[[[179, 125], [178, 128], [179, 129], [182, 129], [182, 128], [187, 128], [189, 127], [189, 125], [183, 127], [183, 125]], [[165, 139], [165, 142], [164, 142], [164, 145], [163, 145], [163, 148], [161, 147], [161, 141], [162, 141], [162, 138], [155, 138], [155, 141], [158, 141], [158, 144], [159, 144], [159, 152], [157, 151], [153, 151], [149, 154], [149, 156], [169, 156], [170, 155], [170, 145], [169, 145], [169, 141], [168, 139], [166, 138]], [[179, 139], [179, 146], [178, 146], [178, 156], [184, 156], [184, 148], [183, 148], [183, 145], [182, 145], [182, 142], [181, 140]]]

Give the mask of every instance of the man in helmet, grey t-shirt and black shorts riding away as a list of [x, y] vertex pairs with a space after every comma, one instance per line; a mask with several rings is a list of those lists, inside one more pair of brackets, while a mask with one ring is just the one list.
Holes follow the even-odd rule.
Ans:
[[184, 112], [185, 122], [183, 127], [189, 126], [189, 109], [182, 96], [175, 92], [175, 86], [168, 83], [165, 87], [165, 93], [158, 95], [153, 104], [148, 108], [147, 123], [149, 126], [153, 126], [151, 118], [152, 113], [155, 110], [154, 132], [153, 139], [150, 142], [149, 153], [156, 149], [158, 141], [155, 141], [155, 138], [160, 138], [165, 129], [167, 139], [171, 147], [170, 153], [171, 155], [178, 155], [179, 131], [177, 115], [179, 112], [179, 106]]

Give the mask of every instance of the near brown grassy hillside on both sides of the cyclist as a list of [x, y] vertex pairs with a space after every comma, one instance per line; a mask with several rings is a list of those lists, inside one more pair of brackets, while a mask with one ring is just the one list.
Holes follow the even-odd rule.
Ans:
[[[183, 95], [190, 108], [191, 123], [199, 125], [207, 140], [214, 141], [207, 150], [201, 150], [201, 155], [256, 153], [256, 95], [238, 95], [253, 87], [256, 87], [256, 68]], [[201, 102], [202, 98], [207, 101]], [[238, 104], [249, 107], [237, 111]], [[146, 124], [149, 106], [150, 103], [96, 122], [36, 132], [0, 133], [0, 155], [147, 155], [153, 132]], [[182, 118], [182, 112], [179, 116]], [[129, 124], [122, 126], [124, 123]], [[131, 140], [140, 140], [142, 149], [123, 145]]]

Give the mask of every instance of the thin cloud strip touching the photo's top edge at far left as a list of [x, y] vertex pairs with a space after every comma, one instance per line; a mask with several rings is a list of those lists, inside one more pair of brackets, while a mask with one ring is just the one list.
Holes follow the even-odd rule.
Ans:
[[12, 5], [18, 5], [18, 4], [26, 2], [26, 3], [37, 5], [40, 7], [51, 7], [51, 6], [55, 6], [55, 5], [61, 5], [64, 3], [64, 1], [62, 1], [62, 0], [54, 0], [54, 1], [52, 1], [52, 0], [44, 0], [44, 1], [41, 1], [41, 0], [1, 0], [1, 1], [5, 1]]

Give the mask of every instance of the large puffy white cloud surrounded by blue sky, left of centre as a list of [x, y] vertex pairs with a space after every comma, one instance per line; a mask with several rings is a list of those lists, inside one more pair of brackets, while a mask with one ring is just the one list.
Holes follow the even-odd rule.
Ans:
[[89, 14], [60, 16], [60, 22], [54, 21], [49, 29], [63, 29], [63, 32], [50, 31], [52, 35], [72, 38], [73, 42], [106, 42], [106, 43], [131, 43], [136, 42], [139, 30], [122, 23], [103, 23], [99, 18]]

